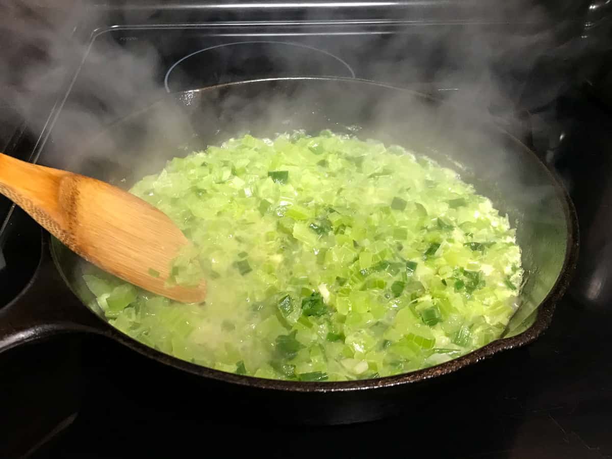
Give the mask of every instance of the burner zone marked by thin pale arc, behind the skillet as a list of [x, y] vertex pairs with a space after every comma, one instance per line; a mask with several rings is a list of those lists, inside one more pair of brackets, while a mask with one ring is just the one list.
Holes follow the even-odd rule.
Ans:
[[[351, 68], [351, 66], [349, 64], [347, 64], [345, 61], [343, 61], [343, 59], [338, 58], [338, 56], [335, 56], [335, 54], [330, 53], [329, 51], [325, 51], [325, 50], [321, 50], [319, 48], [315, 48], [309, 45], [304, 45], [302, 43], [295, 43], [295, 42], [280, 42], [280, 41], [275, 41], [275, 40], [254, 40], [254, 41], [248, 41], [248, 42], [231, 42], [231, 43], [222, 43], [220, 45], [214, 45], [211, 47], [207, 47], [207, 48], [203, 48], [201, 50], [198, 51], [194, 51], [193, 53], [187, 54], [187, 56], [182, 57], [181, 59], [179, 59], [178, 61], [174, 62], [174, 64], [171, 65], [171, 67], [168, 69], [168, 71], [166, 72], [166, 75], [163, 79], [163, 84], [166, 88], [167, 92], [174, 92], [174, 91], [184, 91], [185, 89], [196, 89], [195, 87], [188, 87], [188, 88], [178, 88], [178, 89], [171, 89], [171, 83], [170, 83], [170, 74], [173, 72], [173, 70], [176, 69], [176, 67], [178, 67], [179, 65], [184, 65], [184, 63], [190, 59], [193, 58], [193, 56], [196, 56], [198, 54], [201, 55], [201, 53], [204, 53], [206, 51], [213, 51], [213, 50], [217, 50], [220, 51], [222, 50], [222, 48], [227, 48], [227, 47], [233, 47], [233, 46], [237, 46], [237, 45], [282, 45], [283, 47], [296, 47], [296, 48], [300, 48], [300, 51], [315, 51], [315, 53], [318, 53], [319, 56], [324, 57], [324, 59], [327, 59], [327, 64], [332, 64], [335, 65], [337, 67], [336, 72], [337, 73], [343, 73], [342, 75], [338, 75], [338, 74], [323, 74], [321, 72], [319, 72], [316, 76], [349, 76], [350, 78], [355, 78], [355, 72], [353, 71], [353, 69]], [[295, 53], [293, 54], [289, 54], [291, 56], [293, 56]], [[274, 57], [279, 57], [274, 56]], [[323, 62], [323, 64], [325, 64], [326, 62]], [[224, 61], [223, 64], [226, 64], [226, 62]], [[321, 62], [319, 61], [319, 64], [321, 64]], [[296, 62], [293, 62], [291, 65], [303, 65], [302, 63], [297, 64]], [[291, 67], [291, 65], [289, 67]], [[341, 72], [338, 72], [338, 70], [341, 69]], [[278, 75], [278, 71], [272, 70], [271, 73], [267, 74], [267, 75], [249, 75], [247, 78], [244, 78], [245, 80], [250, 80], [253, 78], [260, 78], [260, 77], [271, 77], [271, 76], [313, 76], [313, 75], [304, 75], [304, 74], [297, 74], [297, 75]], [[199, 78], [198, 78], [199, 80]], [[198, 81], [196, 80], [196, 81]], [[206, 80], [204, 80], [206, 81]], [[239, 80], [230, 80], [230, 81], [239, 81]], [[216, 83], [228, 83], [230, 81], [206, 81], [205, 83], [195, 83], [193, 84], [193, 86], [196, 86], [198, 88], [202, 87], [202, 86], [208, 86], [209, 84], [216, 84]]]

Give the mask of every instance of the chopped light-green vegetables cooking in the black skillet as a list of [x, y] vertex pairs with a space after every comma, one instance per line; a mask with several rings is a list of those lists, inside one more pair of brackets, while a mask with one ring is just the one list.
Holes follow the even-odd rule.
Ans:
[[501, 335], [523, 279], [515, 231], [471, 185], [329, 130], [232, 138], [131, 191], [193, 242], [168, 283], [204, 278], [206, 302], [92, 269], [88, 303], [148, 346], [238, 375], [339, 381], [439, 364]]

